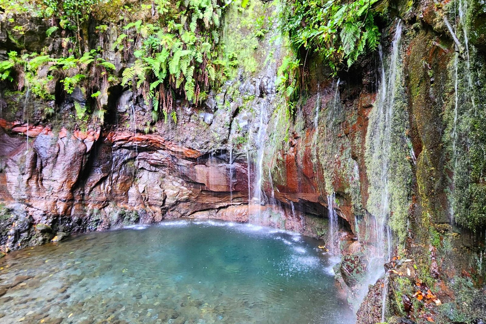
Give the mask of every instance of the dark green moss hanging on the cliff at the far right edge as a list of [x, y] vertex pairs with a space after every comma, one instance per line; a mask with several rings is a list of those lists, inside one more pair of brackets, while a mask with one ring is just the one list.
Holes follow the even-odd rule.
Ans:
[[[479, 7], [476, 1], [472, 1], [466, 12], [466, 28], [473, 31], [469, 33], [474, 35], [473, 38], [485, 36], [481, 28], [486, 28], [486, 17], [484, 12], [478, 15]], [[454, 9], [451, 6], [451, 12]], [[453, 172], [449, 192], [453, 217], [457, 223], [472, 231], [486, 226], [485, 64], [484, 55], [474, 46], [469, 47], [469, 62], [466, 56], [459, 56], [451, 62], [449, 76], [451, 83], [457, 82], [458, 104], [455, 111], [456, 95], [453, 93], [454, 100], [449, 100], [445, 113], [447, 132], [444, 141], [450, 156], [448, 167]], [[469, 76], [474, 80], [471, 84]], [[456, 114], [457, 119], [454, 118]]]

